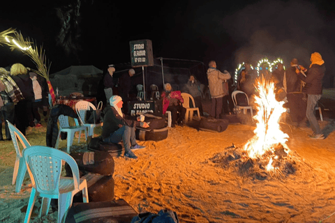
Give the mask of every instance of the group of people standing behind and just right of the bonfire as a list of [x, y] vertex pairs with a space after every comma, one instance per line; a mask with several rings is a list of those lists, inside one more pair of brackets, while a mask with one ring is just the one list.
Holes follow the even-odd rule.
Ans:
[[[299, 128], [306, 128], [309, 124], [313, 130], [313, 134], [308, 135], [311, 139], [325, 139], [315, 117], [315, 107], [322, 96], [324, 75], [325, 61], [320, 53], [314, 52], [309, 68], [299, 65], [298, 59], [292, 59], [286, 70], [283, 63], [277, 63], [270, 76], [276, 84], [276, 96], [280, 100], [286, 96], [288, 100], [290, 120]], [[246, 64], [237, 79], [237, 90], [244, 91], [250, 98], [255, 94], [255, 77], [255, 70]]]

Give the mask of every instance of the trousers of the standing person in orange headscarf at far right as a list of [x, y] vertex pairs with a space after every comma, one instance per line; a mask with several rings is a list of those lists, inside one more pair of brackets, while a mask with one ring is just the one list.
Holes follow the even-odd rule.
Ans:
[[306, 117], [311, 124], [314, 134], [322, 134], [318, 120], [315, 117], [315, 107], [322, 95], [307, 95]]

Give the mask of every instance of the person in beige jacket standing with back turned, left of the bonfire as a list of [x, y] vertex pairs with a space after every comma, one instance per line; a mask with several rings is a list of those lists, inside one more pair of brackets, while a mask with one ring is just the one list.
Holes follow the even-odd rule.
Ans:
[[209, 82], [209, 91], [211, 92], [211, 113], [213, 118], [219, 118], [223, 105], [223, 81], [230, 79], [230, 73], [223, 73], [216, 69], [216, 62], [210, 61], [207, 70], [207, 78]]

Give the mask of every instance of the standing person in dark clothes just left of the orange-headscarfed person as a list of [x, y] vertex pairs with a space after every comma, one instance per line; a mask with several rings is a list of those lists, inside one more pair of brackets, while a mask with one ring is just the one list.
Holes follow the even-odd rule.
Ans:
[[[306, 94], [301, 92], [301, 80], [295, 73], [298, 65], [297, 59], [292, 59], [290, 62], [290, 68], [285, 70], [283, 77], [283, 88], [286, 91], [286, 97], [288, 98], [288, 107], [290, 108], [290, 121], [296, 123], [297, 127], [306, 127]], [[300, 66], [301, 68], [301, 66]], [[306, 72], [306, 69], [303, 68]]]

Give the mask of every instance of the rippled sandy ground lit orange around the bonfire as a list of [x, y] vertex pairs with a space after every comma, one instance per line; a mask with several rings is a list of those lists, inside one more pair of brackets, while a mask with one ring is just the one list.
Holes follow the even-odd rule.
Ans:
[[[232, 144], [246, 144], [255, 127], [232, 124], [218, 133], [177, 126], [163, 141], [139, 141], [147, 147], [135, 151], [137, 160], [114, 157], [115, 198], [124, 199], [138, 213], [174, 210], [179, 222], [335, 222], [334, 119], [325, 117], [320, 126], [324, 140], [309, 139], [311, 130], [281, 125], [290, 137], [288, 147], [297, 158], [297, 171], [265, 180], [241, 176], [210, 160]], [[27, 134], [31, 144], [45, 145], [44, 137], [45, 128]], [[83, 146], [84, 141], [75, 142], [73, 149]], [[31, 191], [29, 176], [16, 194], [11, 185], [13, 144], [1, 141], [0, 147], [0, 222], [22, 222]], [[62, 141], [61, 148], [65, 147]], [[39, 220], [38, 205], [31, 222], [56, 222], [57, 212], [51, 209]]]

